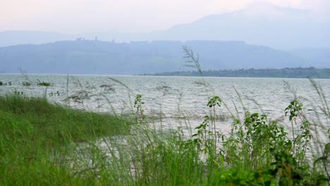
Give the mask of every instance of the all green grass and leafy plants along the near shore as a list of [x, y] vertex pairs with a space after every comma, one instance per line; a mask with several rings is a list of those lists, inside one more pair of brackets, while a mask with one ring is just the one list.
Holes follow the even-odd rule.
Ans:
[[45, 99], [6, 96], [0, 103], [0, 185], [329, 184], [329, 150], [312, 163], [306, 159], [310, 125], [298, 101], [286, 109], [293, 138], [249, 112], [233, 117], [223, 135], [214, 120], [219, 97], [209, 99], [210, 116], [188, 138], [149, 127], [140, 94], [129, 128], [114, 116]]

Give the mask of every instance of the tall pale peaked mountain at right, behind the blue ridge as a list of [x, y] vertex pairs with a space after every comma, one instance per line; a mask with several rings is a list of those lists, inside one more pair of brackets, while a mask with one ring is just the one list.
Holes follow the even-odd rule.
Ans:
[[159, 38], [242, 40], [276, 49], [330, 47], [330, 23], [314, 19], [310, 11], [258, 3], [176, 25], [159, 32]]

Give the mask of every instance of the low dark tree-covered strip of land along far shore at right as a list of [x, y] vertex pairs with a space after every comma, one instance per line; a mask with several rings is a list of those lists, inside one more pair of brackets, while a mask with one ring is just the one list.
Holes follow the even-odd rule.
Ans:
[[[147, 74], [145, 74], [147, 75]], [[151, 75], [151, 74], [149, 74]], [[204, 76], [204, 77], [288, 77], [330, 79], [330, 68], [282, 68], [282, 69], [240, 69], [240, 70], [203, 70], [156, 73], [159, 76]]]

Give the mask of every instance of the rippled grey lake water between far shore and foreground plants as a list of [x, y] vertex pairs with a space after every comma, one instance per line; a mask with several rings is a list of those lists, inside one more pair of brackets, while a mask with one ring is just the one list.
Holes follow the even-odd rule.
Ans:
[[[27, 78], [29, 80], [27, 80]], [[51, 82], [50, 87], [38, 86], [38, 80]], [[217, 109], [219, 116], [243, 118], [244, 109], [265, 113], [272, 120], [284, 119], [284, 109], [295, 95], [304, 104], [305, 111], [315, 116], [322, 105], [316, 89], [308, 79], [281, 78], [233, 78], [233, 77], [154, 77], [154, 76], [112, 76], [112, 75], [27, 75], [0, 74], [0, 81], [12, 85], [1, 86], [0, 94], [23, 92], [80, 109], [105, 113], [128, 113], [133, 108], [136, 94], [142, 94], [145, 113], [161, 119], [166, 128], [175, 128], [178, 116], [186, 116], [189, 125], [197, 125], [202, 116], [209, 113], [209, 97], [219, 96], [226, 106]], [[24, 87], [23, 82], [32, 85]], [[330, 105], [330, 80], [315, 80], [323, 89]], [[207, 85], [203, 85], [207, 83]], [[236, 92], [237, 91], [237, 92]], [[70, 101], [66, 97], [85, 97]], [[240, 99], [242, 101], [240, 101]], [[78, 101], [80, 101], [78, 103]], [[326, 118], [322, 123], [329, 124]], [[227, 130], [230, 122], [222, 121]], [[225, 124], [226, 123], [226, 124]], [[285, 122], [286, 123], [286, 122]], [[180, 124], [182, 125], [182, 123]], [[187, 122], [185, 121], [185, 125]]]

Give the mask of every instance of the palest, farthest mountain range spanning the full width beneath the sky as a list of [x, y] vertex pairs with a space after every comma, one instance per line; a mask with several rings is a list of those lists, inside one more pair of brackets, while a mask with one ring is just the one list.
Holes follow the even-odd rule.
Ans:
[[[273, 0], [274, 4], [285, 1]], [[179, 24], [155, 32], [84, 32], [67, 35], [56, 32], [0, 32], [0, 46], [42, 44], [78, 37], [116, 42], [152, 40], [240, 40], [248, 44], [271, 46], [276, 49], [330, 47], [330, 3], [319, 1], [286, 1], [288, 7], [257, 1], [239, 11], [204, 16], [192, 23]], [[322, 3], [321, 3], [322, 2]], [[300, 4], [301, 8], [290, 8]], [[304, 7], [317, 6], [316, 9]], [[323, 5], [323, 6], [321, 6]], [[321, 11], [320, 11], [321, 10]], [[329, 13], [330, 15], [330, 13]], [[120, 19], [120, 18], [118, 18]]]

